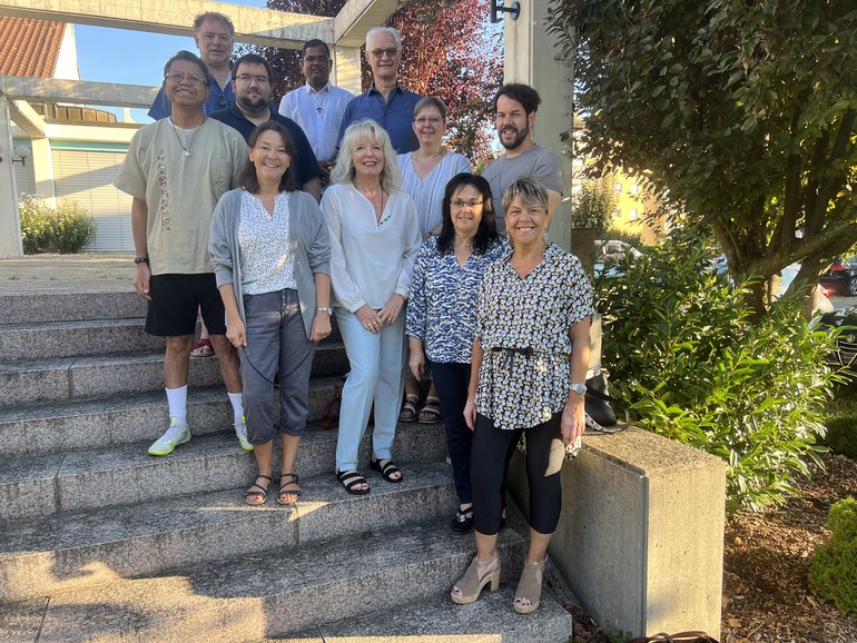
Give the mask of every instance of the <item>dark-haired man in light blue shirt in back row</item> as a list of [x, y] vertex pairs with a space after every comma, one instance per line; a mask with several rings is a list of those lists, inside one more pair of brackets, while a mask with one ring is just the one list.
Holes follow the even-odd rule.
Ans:
[[283, 97], [279, 101], [279, 113], [303, 128], [315, 158], [325, 171], [322, 184], [327, 184], [331, 166], [336, 160], [339, 123], [345, 113], [345, 106], [354, 95], [331, 85], [333, 60], [331, 50], [323, 40], [313, 39], [305, 42], [301, 56], [306, 85]]

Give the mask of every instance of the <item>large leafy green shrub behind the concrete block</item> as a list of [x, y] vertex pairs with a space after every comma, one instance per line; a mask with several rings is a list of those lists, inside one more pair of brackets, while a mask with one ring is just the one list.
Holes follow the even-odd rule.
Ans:
[[839, 376], [830, 338], [801, 317], [800, 294], [758, 324], [733, 287], [708, 268], [699, 236], [647, 250], [597, 284], [603, 364], [637, 424], [728, 463], [728, 507], [781, 503], [791, 476], [824, 447], [824, 404]]

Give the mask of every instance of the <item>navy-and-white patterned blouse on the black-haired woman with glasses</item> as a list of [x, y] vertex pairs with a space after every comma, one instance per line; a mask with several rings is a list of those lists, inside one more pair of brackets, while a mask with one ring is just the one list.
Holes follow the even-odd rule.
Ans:
[[499, 238], [484, 255], [459, 266], [455, 253], [441, 254], [430, 237], [416, 256], [405, 333], [422, 339], [425, 355], [442, 364], [470, 364], [476, 330], [476, 295], [482, 273], [509, 251]]

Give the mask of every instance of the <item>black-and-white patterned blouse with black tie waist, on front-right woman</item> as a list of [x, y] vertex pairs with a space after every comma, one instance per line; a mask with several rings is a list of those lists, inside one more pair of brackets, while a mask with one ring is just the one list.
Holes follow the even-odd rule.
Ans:
[[476, 325], [484, 352], [476, 408], [505, 429], [535, 426], [563, 409], [571, 386], [569, 329], [595, 313], [574, 255], [551, 244], [523, 278], [510, 257], [485, 269]]

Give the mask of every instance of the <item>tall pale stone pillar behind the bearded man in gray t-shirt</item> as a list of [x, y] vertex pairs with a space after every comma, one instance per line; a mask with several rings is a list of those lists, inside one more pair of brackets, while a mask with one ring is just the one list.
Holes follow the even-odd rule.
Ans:
[[[511, 2], [506, 2], [511, 4]], [[548, 2], [520, 0], [521, 13], [512, 20], [504, 13], [505, 59], [503, 80], [524, 82], [539, 92], [542, 103], [535, 116], [533, 140], [556, 152], [562, 159], [565, 194], [550, 227], [551, 241], [571, 250], [571, 148], [561, 139], [571, 132], [573, 70], [559, 61], [556, 37], [548, 33]]]

